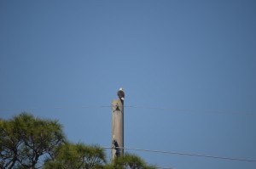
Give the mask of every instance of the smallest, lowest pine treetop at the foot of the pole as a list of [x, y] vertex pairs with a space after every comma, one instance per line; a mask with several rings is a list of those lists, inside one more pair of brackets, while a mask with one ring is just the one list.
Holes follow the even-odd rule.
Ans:
[[155, 169], [155, 166], [148, 165], [142, 158], [137, 155], [131, 155], [126, 153], [113, 160], [113, 162], [107, 166], [107, 169]]

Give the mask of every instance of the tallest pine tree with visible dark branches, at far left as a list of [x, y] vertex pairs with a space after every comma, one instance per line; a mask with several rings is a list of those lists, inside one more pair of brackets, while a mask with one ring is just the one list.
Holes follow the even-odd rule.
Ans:
[[39, 168], [38, 162], [52, 155], [64, 140], [58, 121], [43, 120], [27, 113], [9, 121], [0, 120], [0, 165], [7, 169]]

